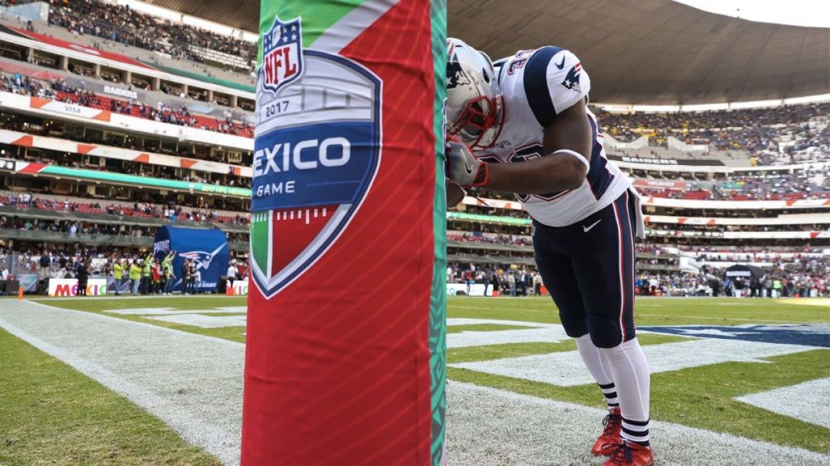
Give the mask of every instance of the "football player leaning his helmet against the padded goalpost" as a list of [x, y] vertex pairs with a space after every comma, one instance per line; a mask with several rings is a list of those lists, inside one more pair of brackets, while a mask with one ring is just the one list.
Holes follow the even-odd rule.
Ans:
[[631, 180], [605, 156], [591, 80], [555, 46], [495, 66], [458, 39], [447, 49], [447, 199], [482, 187], [522, 202], [544, 284], [608, 402], [591, 451], [609, 455], [606, 465], [653, 464], [649, 370], [634, 328], [642, 213]]

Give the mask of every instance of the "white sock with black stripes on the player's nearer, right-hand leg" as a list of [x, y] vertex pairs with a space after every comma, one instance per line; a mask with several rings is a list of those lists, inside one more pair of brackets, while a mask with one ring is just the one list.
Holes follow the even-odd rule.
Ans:
[[640, 342], [632, 338], [613, 348], [599, 348], [617, 386], [623, 414], [623, 439], [648, 444], [650, 375]]

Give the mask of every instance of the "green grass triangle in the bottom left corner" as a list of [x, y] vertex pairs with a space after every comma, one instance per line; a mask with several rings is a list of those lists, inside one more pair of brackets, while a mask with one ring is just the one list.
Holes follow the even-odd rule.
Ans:
[[220, 464], [164, 423], [0, 329], [0, 464]]

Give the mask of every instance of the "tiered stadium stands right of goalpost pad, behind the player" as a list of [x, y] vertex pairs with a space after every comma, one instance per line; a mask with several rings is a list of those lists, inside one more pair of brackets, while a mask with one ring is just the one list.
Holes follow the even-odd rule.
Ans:
[[[827, 296], [828, 123], [830, 104], [603, 112], [600, 124], [618, 140], [648, 137], [644, 148], [609, 149], [643, 197], [649, 238], [638, 245], [638, 292], [731, 296], [743, 289], [766, 296], [779, 282], [778, 295]], [[684, 153], [665, 147], [670, 137], [712, 153], [731, 152]], [[454, 279], [462, 282], [467, 269], [477, 271], [478, 283], [484, 269], [530, 269], [530, 217], [503, 193], [474, 189], [471, 195], [478, 199], [467, 197], [447, 219]], [[764, 283], [726, 279], [725, 269], [735, 264], [759, 265], [767, 278]]]

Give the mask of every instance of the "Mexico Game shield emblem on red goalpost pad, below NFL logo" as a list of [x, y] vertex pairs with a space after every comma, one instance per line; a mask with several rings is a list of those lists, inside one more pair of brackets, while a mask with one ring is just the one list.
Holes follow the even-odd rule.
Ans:
[[[250, 258], [251, 276], [266, 298], [337, 240], [381, 158], [378, 76], [342, 56], [303, 54], [302, 79], [257, 94]], [[260, 78], [265, 90], [262, 72]]]

